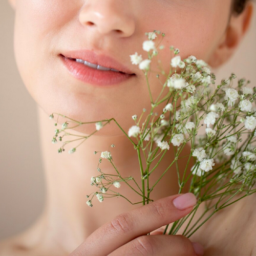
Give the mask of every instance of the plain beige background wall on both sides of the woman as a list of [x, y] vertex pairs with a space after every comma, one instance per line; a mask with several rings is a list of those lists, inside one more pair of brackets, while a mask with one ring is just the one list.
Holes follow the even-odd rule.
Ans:
[[[0, 0], [0, 239], [26, 229], [44, 205], [45, 180], [40, 156], [36, 104], [18, 74], [13, 53], [14, 12]], [[216, 74], [234, 72], [256, 82], [256, 15], [238, 52]], [[213, 71], [214, 72], [214, 71]]]

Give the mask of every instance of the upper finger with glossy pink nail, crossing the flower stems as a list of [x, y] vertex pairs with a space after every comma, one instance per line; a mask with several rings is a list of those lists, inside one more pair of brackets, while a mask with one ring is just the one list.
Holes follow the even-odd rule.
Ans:
[[186, 216], [196, 202], [193, 193], [178, 194], [119, 214], [95, 230], [70, 256], [108, 255], [127, 242]]

